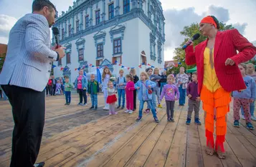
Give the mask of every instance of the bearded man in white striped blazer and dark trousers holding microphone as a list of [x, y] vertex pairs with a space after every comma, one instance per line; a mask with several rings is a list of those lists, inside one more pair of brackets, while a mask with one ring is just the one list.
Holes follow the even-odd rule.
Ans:
[[19, 19], [9, 34], [0, 84], [14, 117], [11, 167], [32, 167], [37, 160], [44, 128], [44, 88], [52, 61], [65, 56], [65, 48], [50, 49], [49, 28], [55, 14], [50, 1], [34, 0], [32, 14]]

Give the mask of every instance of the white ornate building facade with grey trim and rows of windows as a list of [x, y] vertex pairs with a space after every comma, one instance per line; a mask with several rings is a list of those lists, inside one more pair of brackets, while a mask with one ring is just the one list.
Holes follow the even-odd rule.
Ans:
[[75, 81], [79, 68], [90, 73], [109, 66], [113, 74], [122, 67], [118, 64], [137, 74], [146, 68], [140, 64], [163, 68], [164, 20], [159, 0], [76, 0], [54, 24], [67, 47], [54, 75]]

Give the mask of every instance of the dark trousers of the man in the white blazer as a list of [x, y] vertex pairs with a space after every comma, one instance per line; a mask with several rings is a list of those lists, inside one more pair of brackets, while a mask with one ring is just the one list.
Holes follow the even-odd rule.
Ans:
[[33, 167], [44, 128], [45, 92], [19, 86], [2, 86], [12, 106], [11, 167]]

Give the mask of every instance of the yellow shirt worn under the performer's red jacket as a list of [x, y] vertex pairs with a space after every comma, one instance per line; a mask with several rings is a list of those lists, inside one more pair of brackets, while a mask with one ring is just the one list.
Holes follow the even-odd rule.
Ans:
[[[212, 58], [210, 57], [212, 56]], [[220, 88], [219, 80], [217, 78], [214, 69], [214, 49], [212, 49], [212, 54], [210, 54], [210, 49], [205, 48], [204, 50], [204, 86], [211, 92], [216, 91]]]

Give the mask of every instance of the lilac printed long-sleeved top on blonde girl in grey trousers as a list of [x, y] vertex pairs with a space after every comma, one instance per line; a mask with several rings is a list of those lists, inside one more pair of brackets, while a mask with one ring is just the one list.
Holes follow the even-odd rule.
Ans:
[[174, 84], [166, 84], [163, 86], [163, 91], [161, 92], [160, 99], [166, 98], [166, 101], [175, 101], [179, 98], [178, 87]]

